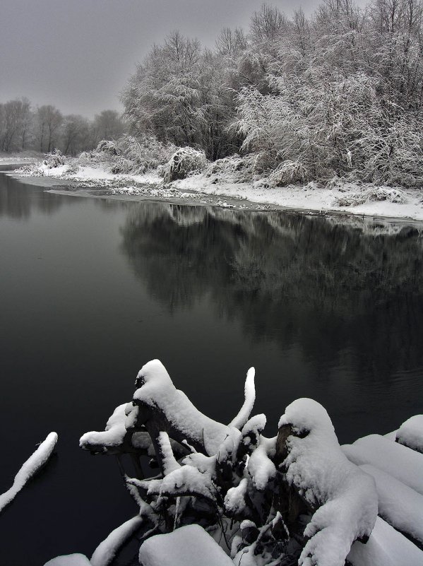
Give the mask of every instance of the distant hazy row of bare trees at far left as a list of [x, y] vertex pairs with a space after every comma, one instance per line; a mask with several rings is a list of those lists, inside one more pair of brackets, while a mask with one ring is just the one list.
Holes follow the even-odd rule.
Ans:
[[103, 110], [94, 119], [62, 114], [52, 105], [32, 107], [28, 98], [0, 103], [0, 151], [59, 149], [66, 155], [90, 151], [102, 139], [117, 139], [126, 131], [116, 110]]

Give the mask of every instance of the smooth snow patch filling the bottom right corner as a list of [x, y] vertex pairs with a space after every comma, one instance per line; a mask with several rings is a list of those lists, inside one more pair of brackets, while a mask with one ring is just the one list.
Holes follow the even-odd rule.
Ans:
[[353, 566], [423, 566], [423, 552], [378, 517], [367, 544], [352, 545], [348, 560]]

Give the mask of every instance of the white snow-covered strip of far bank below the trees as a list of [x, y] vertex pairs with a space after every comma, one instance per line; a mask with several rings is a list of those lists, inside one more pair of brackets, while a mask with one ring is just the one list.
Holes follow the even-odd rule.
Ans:
[[[82, 187], [108, 189], [109, 194], [163, 201], [182, 200], [217, 204], [225, 208], [287, 208], [319, 213], [348, 213], [374, 218], [410, 218], [423, 220], [423, 191], [400, 187], [376, 187], [371, 184], [337, 183], [318, 187], [316, 183], [269, 187], [265, 180], [225, 182], [224, 179], [200, 173], [164, 184], [156, 171], [143, 175], [113, 174], [107, 167], [88, 165], [41, 164], [37, 172], [15, 172], [14, 175], [51, 177], [71, 180]], [[249, 206], [250, 205], [250, 206]]]

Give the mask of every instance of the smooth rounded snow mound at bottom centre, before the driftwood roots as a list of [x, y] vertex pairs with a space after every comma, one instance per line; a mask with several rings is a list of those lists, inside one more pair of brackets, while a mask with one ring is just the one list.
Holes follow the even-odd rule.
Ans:
[[213, 538], [199, 525], [181, 526], [155, 535], [140, 548], [143, 566], [234, 566]]

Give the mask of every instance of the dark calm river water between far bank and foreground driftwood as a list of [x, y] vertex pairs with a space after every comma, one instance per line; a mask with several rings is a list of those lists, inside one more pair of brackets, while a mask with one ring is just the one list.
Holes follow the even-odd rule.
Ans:
[[136, 513], [114, 459], [78, 439], [131, 399], [150, 359], [225, 422], [254, 365], [269, 436], [302, 396], [326, 406], [340, 442], [421, 413], [423, 239], [380, 231], [59, 196], [0, 174], [0, 493], [59, 433], [0, 515], [0, 565], [90, 555]]

